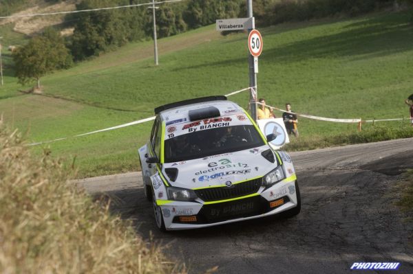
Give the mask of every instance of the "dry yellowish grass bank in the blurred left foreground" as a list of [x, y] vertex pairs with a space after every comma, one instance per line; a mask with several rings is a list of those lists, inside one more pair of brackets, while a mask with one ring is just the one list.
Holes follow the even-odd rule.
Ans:
[[68, 176], [0, 124], [0, 273], [184, 272]]

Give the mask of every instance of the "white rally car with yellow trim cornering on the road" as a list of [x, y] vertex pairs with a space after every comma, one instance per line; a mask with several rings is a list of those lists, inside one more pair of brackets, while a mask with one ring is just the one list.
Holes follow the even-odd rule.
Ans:
[[139, 149], [145, 196], [161, 230], [194, 229], [274, 214], [299, 214], [297, 177], [253, 119], [224, 96], [155, 109]]

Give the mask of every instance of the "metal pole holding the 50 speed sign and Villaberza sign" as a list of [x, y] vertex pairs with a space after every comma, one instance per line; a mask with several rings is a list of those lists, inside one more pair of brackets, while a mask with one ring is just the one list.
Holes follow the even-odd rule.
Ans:
[[[252, 28], [248, 29], [248, 34], [251, 30], [255, 29], [255, 22], [253, 19], [253, 0], [246, 0], [246, 16], [252, 20]], [[257, 74], [254, 69], [254, 56], [248, 54], [248, 67], [249, 67], [249, 78], [250, 78], [250, 107], [251, 107], [251, 117], [257, 122]]]

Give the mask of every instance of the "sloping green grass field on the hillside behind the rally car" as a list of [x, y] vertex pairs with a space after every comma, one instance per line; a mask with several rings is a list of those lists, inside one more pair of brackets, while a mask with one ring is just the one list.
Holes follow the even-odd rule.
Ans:
[[[322, 117], [407, 118], [403, 103], [413, 87], [410, 14], [379, 13], [356, 19], [288, 23], [260, 30], [264, 50], [257, 76], [259, 97], [284, 109]], [[248, 87], [246, 34], [220, 36], [215, 26], [131, 43], [116, 52], [42, 79], [44, 95], [20, 95], [8, 76], [0, 112], [9, 124], [45, 141], [116, 126], [153, 115], [153, 107]], [[14, 81], [14, 82], [13, 82]], [[231, 100], [246, 107], [248, 94]], [[278, 113], [279, 116], [281, 113]], [[377, 123], [379, 124], [379, 123]], [[410, 129], [404, 122], [381, 123]], [[138, 169], [136, 150], [151, 123], [48, 144], [52, 154], [74, 161], [78, 176]], [[371, 124], [364, 124], [369, 130]], [[302, 139], [357, 134], [356, 124], [299, 119]], [[410, 130], [413, 136], [413, 130]], [[39, 151], [45, 146], [34, 148]]]

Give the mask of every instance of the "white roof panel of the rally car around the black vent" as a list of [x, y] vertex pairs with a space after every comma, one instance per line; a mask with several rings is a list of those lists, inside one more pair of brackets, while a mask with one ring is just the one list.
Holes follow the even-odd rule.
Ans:
[[238, 104], [226, 101], [226, 100], [216, 100], [210, 102], [201, 102], [194, 104], [187, 104], [184, 106], [178, 106], [172, 109], [167, 109], [159, 113], [162, 121], [174, 121], [182, 119], [184, 121], [191, 121], [189, 117], [189, 112], [193, 110], [215, 108], [218, 109], [220, 115], [228, 115], [231, 113], [244, 113], [244, 109], [238, 106]]

